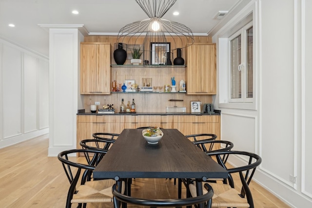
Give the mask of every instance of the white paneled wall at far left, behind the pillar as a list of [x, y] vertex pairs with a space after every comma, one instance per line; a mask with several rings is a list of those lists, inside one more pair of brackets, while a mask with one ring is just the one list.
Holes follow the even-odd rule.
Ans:
[[0, 148], [49, 132], [48, 61], [0, 39]]

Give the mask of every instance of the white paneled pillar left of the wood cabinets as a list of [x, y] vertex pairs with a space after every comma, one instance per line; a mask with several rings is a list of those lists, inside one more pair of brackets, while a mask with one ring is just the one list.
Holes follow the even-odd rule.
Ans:
[[76, 149], [79, 50], [82, 34], [78, 29], [50, 29], [50, 140], [49, 156]]

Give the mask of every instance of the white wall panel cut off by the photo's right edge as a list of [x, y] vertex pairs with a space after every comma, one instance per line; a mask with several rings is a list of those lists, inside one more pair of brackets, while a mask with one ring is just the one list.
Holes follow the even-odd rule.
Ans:
[[311, 138], [312, 133], [312, 95], [311, 95], [311, 79], [312, 79], [312, 49], [311, 46], [311, 36], [312, 36], [312, 26], [311, 26], [311, 9], [312, 2], [310, 0], [301, 1], [301, 192], [312, 198], [312, 167], [310, 158], [311, 153]]

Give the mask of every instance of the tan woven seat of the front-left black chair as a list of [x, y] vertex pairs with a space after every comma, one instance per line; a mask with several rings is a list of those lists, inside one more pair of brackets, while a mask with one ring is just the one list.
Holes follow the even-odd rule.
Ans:
[[[112, 187], [115, 183], [112, 179], [87, 181], [76, 189], [77, 193], [71, 203], [113, 202]], [[122, 182], [122, 192], [124, 189], [125, 184]]]

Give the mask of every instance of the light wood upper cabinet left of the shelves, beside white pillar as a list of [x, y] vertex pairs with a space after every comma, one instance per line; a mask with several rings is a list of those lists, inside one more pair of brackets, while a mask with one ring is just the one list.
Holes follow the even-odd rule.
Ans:
[[110, 43], [80, 43], [80, 94], [110, 94]]

